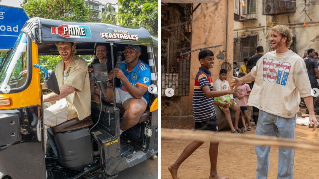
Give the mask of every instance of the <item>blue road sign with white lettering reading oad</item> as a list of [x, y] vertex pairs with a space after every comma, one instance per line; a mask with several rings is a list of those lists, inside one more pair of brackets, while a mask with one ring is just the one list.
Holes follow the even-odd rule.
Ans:
[[29, 17], [23, 8], [0, 5], [0, 50], [14, 46], [27, 20]]

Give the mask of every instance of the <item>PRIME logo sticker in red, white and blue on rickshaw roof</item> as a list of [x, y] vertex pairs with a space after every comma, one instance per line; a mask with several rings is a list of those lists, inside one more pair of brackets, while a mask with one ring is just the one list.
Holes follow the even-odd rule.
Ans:
[[91, 38], [91, 29], [87, 25], [60, 25], [51, 27], [52, 34], [59, 34], [66, 38]]

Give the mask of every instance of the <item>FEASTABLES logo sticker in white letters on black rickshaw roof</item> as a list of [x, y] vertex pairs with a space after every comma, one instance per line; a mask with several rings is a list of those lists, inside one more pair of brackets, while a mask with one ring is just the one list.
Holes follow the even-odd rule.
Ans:
[[128, 31], [114, 30], [111, 28], [108, 28], [106, 32], [101, 32], [101, 37], [103, 39], [119, 39], [130, 41], [137, 41], [139, 39], [137, 34], [129, 33]]

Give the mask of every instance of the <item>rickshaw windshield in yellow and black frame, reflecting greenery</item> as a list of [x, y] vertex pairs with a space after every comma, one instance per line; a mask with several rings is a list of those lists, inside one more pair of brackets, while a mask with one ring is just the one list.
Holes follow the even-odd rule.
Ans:
[[11, 89], [24, 86], [28, 73], [27, 36], [20, 33], [13, 49], [8, 52], [0, 66], [0, 85], [8, 84]]

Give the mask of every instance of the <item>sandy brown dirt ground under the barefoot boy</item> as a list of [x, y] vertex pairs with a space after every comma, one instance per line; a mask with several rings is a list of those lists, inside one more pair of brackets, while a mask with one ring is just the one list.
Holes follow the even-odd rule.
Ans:
[[[245, 133], [254, 134], [252, 131]], [[229, 131], [224, 131], [229, 132]], [[244, 134], [238, 134], [244, 135]], [[308, 126], [296, 125], [295, 138], [319, 142], [319, 129], [312, 132]], [[170, 179], [171, 174], [167, 167], [172, 164], [191, 141], [186, 140], [161, 140], [161, 178]], [[208, 155], [209, 143], [204, 143], [178, 170], [181, 179], [207, 179], [210, 172]], [[256, 154], [254, 146], [219, 144], [217, 170], [220, 175], [229, 179], [254, 179], [256, 177]], [[296, 179], [319, 178], [319, 151], [295, 150], [294, 177]], [[283, 167], [283, 166], [280, 166]], [[277, 178], [278, 147], [271, 148], [271, 164], [269, 179]]]

